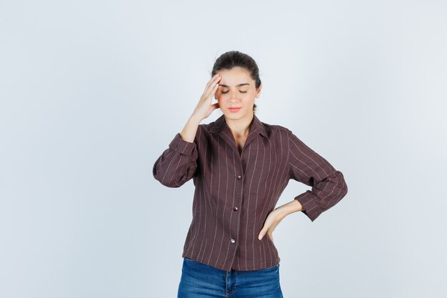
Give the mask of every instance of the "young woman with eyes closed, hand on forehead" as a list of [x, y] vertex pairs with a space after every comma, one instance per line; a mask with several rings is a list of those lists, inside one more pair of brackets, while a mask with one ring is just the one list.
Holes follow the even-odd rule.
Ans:
[[[228, 51], [211, 75], [153, 169], [167, 187], [189, 179], [196, 187], [178, 297], [283, 297], [273, 230], [293, 212], [313, 222], [348, 189], [343, 174], [289, 129], [254, 114], [261, 80], [250, 56]], [[224, 115], [200, 124], [215, 109]], [[312, 189], [275, 209], [289, 179]]]

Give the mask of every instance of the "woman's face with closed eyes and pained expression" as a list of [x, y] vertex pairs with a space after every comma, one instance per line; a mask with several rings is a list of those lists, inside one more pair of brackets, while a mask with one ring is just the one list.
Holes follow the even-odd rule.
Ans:
[[246, 69], [233, 67], [217, 71], [221, 75], [216, 99], [226, 119], [239, 120], [253, 117], [253, 104], [259, 96], [261, 86], [256, 90], [255, 81]]

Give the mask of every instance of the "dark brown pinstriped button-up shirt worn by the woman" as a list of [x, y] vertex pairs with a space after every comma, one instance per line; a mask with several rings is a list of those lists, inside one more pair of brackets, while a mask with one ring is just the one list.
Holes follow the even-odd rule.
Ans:
[[258, 234], [289, 179], [311, 187], [295, 199], [312, 222], [348, 192], [343, 174], [326, 159], [290, 130], [256, 115], [241, 153], [222, 115], [200, 124], [194, 142], [176, 134], [153, 174], [166, 187], [193, 179], [193, 218], [182, 257], [226, 271], [279, 263], [271, 239]]

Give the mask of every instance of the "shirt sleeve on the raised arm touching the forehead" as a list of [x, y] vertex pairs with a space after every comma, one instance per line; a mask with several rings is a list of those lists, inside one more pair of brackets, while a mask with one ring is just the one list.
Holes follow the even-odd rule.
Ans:
[[166, 187], [181, 187], [194, 177], [197, 169], [197, 145], [181, 139], [176, 134], [161, 156], [156, 160], [152, 172], [155, 179]]

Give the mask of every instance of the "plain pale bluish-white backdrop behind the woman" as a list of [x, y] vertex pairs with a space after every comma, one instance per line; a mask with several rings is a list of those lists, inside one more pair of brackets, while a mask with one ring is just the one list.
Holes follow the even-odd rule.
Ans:
[[[348, 194], [275, 244], [284, 297], [446, 297], [446, 1], [0, 1], [0, 297], [176, 297], [194, 184], [152, 167], [215, 59]], [[215, 111], [203, 123], [221, 116]], [[277, 206], [306, 187], [291, 180]]]

